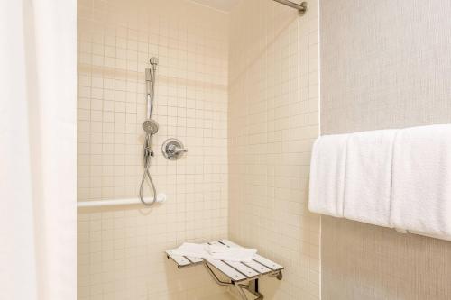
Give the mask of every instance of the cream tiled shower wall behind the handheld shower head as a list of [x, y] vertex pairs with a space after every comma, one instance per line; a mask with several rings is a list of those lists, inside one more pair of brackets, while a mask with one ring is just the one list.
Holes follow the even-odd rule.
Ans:
[[[78, 1], [78, 200], [137, 197], [144, 68], [160, 59], [151, 173], [168, 201], [78, 210], [78, 299], [222, 299], [163, 251], [227, 236], [227, 15], [182, 0]], [[189, 149], [177, 162], [161, 143]]]

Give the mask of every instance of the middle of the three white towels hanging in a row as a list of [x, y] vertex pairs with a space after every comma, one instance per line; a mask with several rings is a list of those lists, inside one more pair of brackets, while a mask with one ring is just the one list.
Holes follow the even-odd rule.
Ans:
[[356, 132], [347, 141], [346, 219], [390, 227], [391, 162], [398, 130]]

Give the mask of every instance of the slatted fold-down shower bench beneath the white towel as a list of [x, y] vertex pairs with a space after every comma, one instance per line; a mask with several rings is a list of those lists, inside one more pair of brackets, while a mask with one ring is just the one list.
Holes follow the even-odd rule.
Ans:
[[[219, 240], [208, 242], [210, 245], [224, 245], [225, 247], [241, 247], [232, 241]], [[178, 268], [189, 268], [198, 265], [204, 265], [208, 273], [215, 279], [220, 286], [235, 286], [243, 300], [247, 300], [244, 289], [255, 295], [257, 299], [263, 299], [258, 289], [258, 279], [263, 276], [276, 277], [281, 280], [283, 267], [270, 259], [265, 259], [256, 254], [251, 262], [237, 262], [216, 259], [198, 259], [173, 255], [172, 250], [167, 250], [168, 259], [172, 259]], [[222, 281], [217, 277], [216, 272], [227, 278]]]

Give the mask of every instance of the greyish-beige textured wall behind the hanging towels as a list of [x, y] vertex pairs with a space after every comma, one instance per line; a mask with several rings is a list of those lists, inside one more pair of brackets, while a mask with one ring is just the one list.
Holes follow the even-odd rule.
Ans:
[[[323, 0], [321, 134], [451, 123], [451, 2]], [[451, 242], [324, 217], [324, 300], [451, 299]]]

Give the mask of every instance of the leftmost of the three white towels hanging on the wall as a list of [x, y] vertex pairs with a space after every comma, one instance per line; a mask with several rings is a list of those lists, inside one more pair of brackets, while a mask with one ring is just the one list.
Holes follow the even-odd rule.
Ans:
[[324, 135], [315, 141], [310, 163], [308, 209], [343, 217], [348, 134]]

